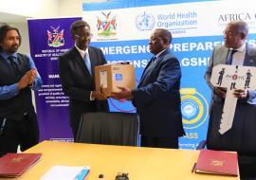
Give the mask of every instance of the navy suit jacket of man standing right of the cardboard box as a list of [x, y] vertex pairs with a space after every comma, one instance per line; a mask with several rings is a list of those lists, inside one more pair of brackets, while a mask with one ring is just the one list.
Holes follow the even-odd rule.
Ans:
[[137, 89], [132, 92], [140, 119], [140, 134], [181, 136], [184, 130], [180, 110], [180, 64], [168, 49], [154, 64], [151, 63], [146, 66]]

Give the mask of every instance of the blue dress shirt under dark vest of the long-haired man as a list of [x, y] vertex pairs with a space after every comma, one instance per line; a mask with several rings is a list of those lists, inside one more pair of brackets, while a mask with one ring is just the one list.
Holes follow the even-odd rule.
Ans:
[[[8, 57], [12, 56], [14, 57], [14, 62], [18, 64], [17, 62], [17, 53], [13, 53], [11, 55], [5, 53], [5, 52], [1, 52], [0, 55], [4, 58], [4, 60], [6, 60], [9, 63]], [[32, 58], [30, 56], [28, 56], [29, 58], [29, 64], [30, 64], [30, 68], [35, 68], [35, 63], [33, 62]], [[41, 89], [43, 84], [43, 81], [39, 75], [39, 73], [37, 72], [34, 83], [31, 87], [31, 89], [33, 89], [34, 91]], [[4, 85], [4, 86], [0, 86], [0, 99], [10, 99], [12, 97], [14, 97], [15, 95], [17, 95], [19, 93], [18, 90], [18, 83], [13, 83], [10, 85]]]

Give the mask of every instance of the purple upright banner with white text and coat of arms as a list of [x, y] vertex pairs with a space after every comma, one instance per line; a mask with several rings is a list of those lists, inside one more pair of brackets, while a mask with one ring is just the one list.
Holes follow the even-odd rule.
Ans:
[[43, 79], [35, 94], [40, 139], [73, 141], [69, 127], [68, 98], [58, 72], [58, 56], [74, 45], [70, 26], [74, 18], [28, 19], [30, 53]]

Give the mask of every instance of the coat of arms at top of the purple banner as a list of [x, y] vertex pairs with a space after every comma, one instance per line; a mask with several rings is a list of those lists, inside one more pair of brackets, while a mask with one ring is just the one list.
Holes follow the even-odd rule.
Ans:
[[48, 45], [53, 47], [59, 47], [64, 45], [64, 29], [62, 29], [61, 32], [59, 32], [59, 27], [51, 27], [53, 32], [50, 32], [47, 30], [47, 36], [48, 36]]

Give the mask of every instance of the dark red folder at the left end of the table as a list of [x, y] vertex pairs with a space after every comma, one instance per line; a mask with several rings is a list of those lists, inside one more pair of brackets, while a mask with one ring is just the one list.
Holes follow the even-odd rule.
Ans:
[[0, 158], [0, 176], [20, 176], [41, 156], [42, 153], [7, 153]]

